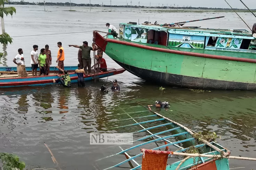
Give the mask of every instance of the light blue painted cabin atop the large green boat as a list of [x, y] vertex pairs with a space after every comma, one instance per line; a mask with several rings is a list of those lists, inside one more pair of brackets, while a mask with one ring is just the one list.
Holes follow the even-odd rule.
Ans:
[[145, 45], [256, 53], [256, 39], [246, 30], [193, 29], [121, 23], [119, 37]]

